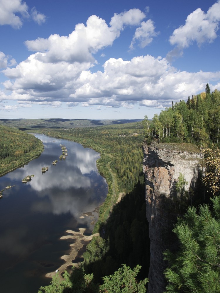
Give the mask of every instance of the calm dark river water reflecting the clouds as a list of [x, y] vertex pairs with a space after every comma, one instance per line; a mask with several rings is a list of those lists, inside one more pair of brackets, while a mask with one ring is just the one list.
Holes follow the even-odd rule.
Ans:
[[[44, 144], [39, 158], [0, 177], [0, 292], [35, 293], [49, 285], [47, 272], [55, 271], [68, 254], [70, 240], [60, 240], [67, 229], [91, 233], [104, 201], [107, 184], [96, 167], [99, 154], [75, 142], [36, 134]], [[66, 146], [65, 160], [60, 144]], [[52, 162], [58, 160], [54, 166]], [[42, 167], [49, 167], [46, 173]], [[22, 183], [27, 176], [35, 176]], [[83, 213], [92, 212], [94, 218]], [[93, 219], [92, 219], [93, 218]]]

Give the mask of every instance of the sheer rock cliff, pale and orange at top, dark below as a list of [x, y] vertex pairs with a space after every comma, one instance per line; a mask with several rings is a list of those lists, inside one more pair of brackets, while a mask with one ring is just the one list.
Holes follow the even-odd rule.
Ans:
[[[183, 144], [182, 144], [183, 146]], [[187, 145], [184, 145], [187, 148]], [[150, 236], [150, 269], [148, 293], [162, 293], [165, 290], [163, 271], [166, 263], [163, 252], [175, 249], [176, 240], [172, 232], [179, 205], [175, 203], [177, 196], [175, 182], [182, 173], [188, 182], [186, 190], [193, 188], [201, 167], [202, 158], [197, 153], [181, 149], [177, 144], [143, 144], [143, 172], [145, 174], [146, 215], [149, 222]]]

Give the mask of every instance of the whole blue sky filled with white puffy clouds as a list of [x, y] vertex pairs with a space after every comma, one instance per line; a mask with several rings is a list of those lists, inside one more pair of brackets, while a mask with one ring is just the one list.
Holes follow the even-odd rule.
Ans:
[[152, 119], [220, 90], [220, 0], [0, 0], [0, 119]]

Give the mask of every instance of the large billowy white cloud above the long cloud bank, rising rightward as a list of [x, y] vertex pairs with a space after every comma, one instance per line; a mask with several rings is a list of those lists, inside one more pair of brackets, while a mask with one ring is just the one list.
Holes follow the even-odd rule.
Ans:
[[126, 25], [139, 25], [145, 14], [139, 9], [114, 14], [110, 27], [96, 15], [88, 18], [86, 25], [79, 23], [68, 36], [50, 35], [25, 42], [28, 50], [38, 52], [36, 58], [42, 62], [95, 62], [93, 54], [111, 46]]

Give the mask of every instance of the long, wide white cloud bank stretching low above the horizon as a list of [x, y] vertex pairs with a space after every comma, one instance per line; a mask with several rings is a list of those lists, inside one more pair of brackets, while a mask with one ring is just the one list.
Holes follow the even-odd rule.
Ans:
[[177, 71], [167, 59], [150, 55], [130, 61], [110, 58], [103, 65], [104, 72], [92, 73], [81, 65], [79, 68], [79, 64], [65, 62], [45, 64], [31, 55], [14, 70], [4, 70], [11, 78], [16, 76], [14, 82], [4, 83], [12, 91], [7, 98], [52, 107], [60, 107], [61, 102], [68, 107], [79, 103], [109, 108], [127, 108], [138, 103], [166, 107], [171, 99], [178, 101], [203, 91], [207, 81], [211, 89], [218, 88], [211, 80], [220, 79], [220, 72]]

